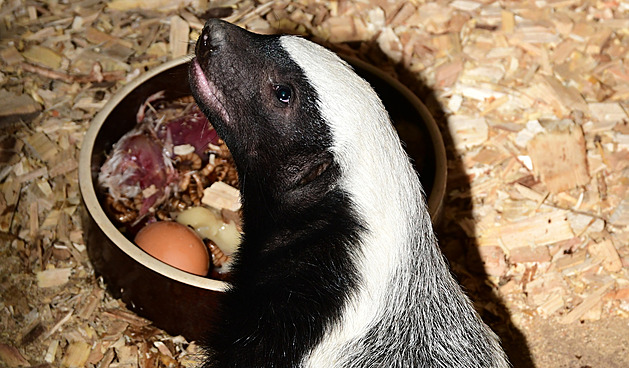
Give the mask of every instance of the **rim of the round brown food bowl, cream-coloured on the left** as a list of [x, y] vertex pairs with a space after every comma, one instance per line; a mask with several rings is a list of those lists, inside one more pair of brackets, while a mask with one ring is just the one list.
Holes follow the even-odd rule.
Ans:
[[[424, 106], [421, 100], [419, 100], [419, 98], [413, 92], [411, 92], [406, 86], [404, 86], [395, 78], [386, 74], [377, 67], [362, 60], [359, 60], [355, 57], [342, 57], [352, 66], [359, 67], [367, 71], [368, 73], [371, 73], [383, 79], [387, 84], [399, 91], [408, 101], [411, 102], [411, 104], [415, 107], [415, 109], [424, 120], [425, 126], [430, 134], [430, 138], [433, 141], [433, 146], [435, 149], [435, 160], [437, 161], [435, 164], [435, 175], [432, 192], [428, 193], [426, 196], [428, 208], [433, 208], [431, 218], [434, 223], [439, 218], [442, 210], [442, 199], [445, 193], [446, 185], [445, 146], [443, 144], [441, 132], [439, 131], [434, 121], [434, 118], [432, 117], [432, 115], [430, 115], [428, 109], [426, 108], [426, 106]], [[190, 286], [196, 286], [201, 289], [212, 291], [225, 291], [229, 288], [229, 283], [215, 280], [209, 277], [194, 275], [170, 266], [152, 257], [151, 255], [143, 251], [140, 247], [132, 243], [124, 235], [122, 235], [122, 233], [115, 227], [113, 222], [111, 222], [111, 220], [109, 220], [109, 218], [105, 214], [105, 211], [103, 210], [96, 196], [95, 186], [92, 180], [91, 160], [94, 143], [96, 141], [98, 133], [100, 132], [100, 129], [107, 120], [109, 114], [118, 106], [118, 104], [124, 98], [126, 98], [137, 87], [139, 87], [149, 79], [155, 77], [156, 75], [165, 72], [171, 68], [188, 63], [190, 60], [192, 60], [192, 56], [188, 55], [167, 61], [155, 68], [152, 68], [146, 73], [143, 73], [141, 76], [133, 79], [127, 85], [123, 86], [120, 90], [114, 93], [111, 99], [105, 104], [103, 109], [90, 122], [90, 126], [88, 127], [83, 137], [83, 142], [79, 153], [79, 188], [83, 197], [85, 207], [88, 211], [88, 215], [105, 234], [105, 236], [111, 242], [113, 242], [115, 246], [117, 246], [122, 252], [127, 254], [133, 260], [140, 263], [142, 266], [160, 275], [168, 277], [174, 281], [178, 281]]]

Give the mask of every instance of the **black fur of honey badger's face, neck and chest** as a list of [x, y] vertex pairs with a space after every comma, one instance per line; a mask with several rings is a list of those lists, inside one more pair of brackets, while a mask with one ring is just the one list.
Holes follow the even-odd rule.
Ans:
[[[208, 105], [192, 64], [195, 98], [234, 156], [244, 224], [204, 367], [295, 367], [358, 282], [350, 259], [362, 226], [337, 183], [316, 93], [278, 37], [213, 20], [196, 55], [221, 92], [222, 107]], [[288, 105], [277, 85], [291, 88]]]

